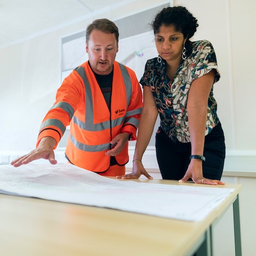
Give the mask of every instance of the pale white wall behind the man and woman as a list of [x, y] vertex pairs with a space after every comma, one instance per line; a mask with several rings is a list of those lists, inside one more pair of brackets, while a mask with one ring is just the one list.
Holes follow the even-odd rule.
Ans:
[[[123, 7], [97, 14], [82, 22], [38, 36], [0, 50], [0, 163], [8, 163], [15, 156], [27, 153], [35, 146], [42, 118], [52, 106], [56, 89], [60, 86], [60, 39], [85, 29], [92, 20], [122, 17], [156, 7], [168, 1], [138, 0]], [[172, 1], [171, 1], [172, 2]], [[214, 45], [221, 80], [215, 86], [215, 97], [225, 133], [227, 160], [224, 171], [256, 172], [256, 86], [255, 9], [254, 0], [174, 0], [185, 5], [197, 17], [199, 27], [194, 40], [207, 39]], [[150, 22], [150, 21], [149, 21]], [[57, 153], [58, 154], [58, 153]], [[59, 157], [63, 161], [63, 153]], [[132, 150], [130, 151], [132, 156]], [[143, 159], [148, 168], [157, 168], [154, 150]], [[128, 167], [131, 163], [128, 164]], [[230, 181], [238, 182], [237, 178]], [[251, 256], [251, 230], [255, 222], [249, 206], [250, 194], [255, 194], [255, 179], [239, 179], [244, 186], [242, 206], [243, 255]], [[248, 186], [247, 186], [248, 185]], [[248, 189], [248, 187], [250, 189]], [[251, 225], [249, 224], [251, 223]], [[223, 227], [224, 228], [224, 227]], [[221, 231], [220, 231], [221, 233]], [[226, 238], [223, 236], [223, 240]], [[220, 238], [221, 240], [221, 238]], [[230, 252], [229, 252], [230, 253]], [[231, 254], [216, 255], [233, 255]]]

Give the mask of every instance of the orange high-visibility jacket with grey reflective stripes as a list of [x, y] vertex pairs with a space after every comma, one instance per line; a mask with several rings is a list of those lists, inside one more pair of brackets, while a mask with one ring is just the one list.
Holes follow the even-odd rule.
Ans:
[[[66, 158], [78, 167], [94, 172], [109, 168], [109, 143], [127, 131], [136, 139], [142, 111], [142, 92], [135, 72], [114, 62], [111, 111], [88, 62], [78, 66], [58, 89], [56, 102], [42, 121], [38, 143], [51, 136], [57, 143], [70, 123]], [[115, 156], [119, 165], [129, 161], [128, 143]]]

